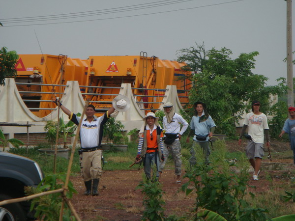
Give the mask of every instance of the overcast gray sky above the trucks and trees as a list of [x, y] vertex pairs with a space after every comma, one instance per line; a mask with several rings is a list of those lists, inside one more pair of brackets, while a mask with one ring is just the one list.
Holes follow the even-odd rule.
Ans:
[[[148, 56], [175, 60], [177, 50], [204, 42], [207, 50], [232, 50], [232, 58], [258, 51], [253, 73], [265, 75], [268, 85], [274, 85], [277, 78], [287, 77], [283, 62], [286, 8], [285, 0], [4, 0], [0, 47], [18, 54], [41, 54], [42, 50], [81, 59], [144, 51]], [[295, 24], [294, 8], [295, 2]], [[61, 19], [65, 14], [75, 18]], [[47, 15], [60, 16], [29, 21], [44, 20], [38, 16]]]

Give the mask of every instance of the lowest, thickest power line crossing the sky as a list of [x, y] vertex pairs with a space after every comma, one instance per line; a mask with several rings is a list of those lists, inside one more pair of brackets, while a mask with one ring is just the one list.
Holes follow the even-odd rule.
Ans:
[[[152, 12], [152, 13], [146, 13], [146, 14], [118, 16], [118, 17], [113, 17], [113, 18], [101, 18], [101, 19], [91, 19], [91, 20], [71, 21], [71, 22], [56, 22], [56, 23], [45, 23], [45, 24], [12, 25], [12, 26], [3, 26], [3, 28], [5, 28], [5, 27], [20, 27], [20, 26], [54, 25], [54, 24], [65, 24], [65, 23], [77, 23], [77, 22], [91, 22], [91, 21], [99, 21], [99, 20], [110, 20], [110, 19], [118, 19], [118, 18], [130, 18], [130, 17], [145, 16], [145, 15], [169, 13], [169, 12], [175, 12], [175, 11], [191, 10], [191, 9], [196, 9], [196, 8], [203, 8], [203, 7], [210, 7], [210, 6], [216, 6], [216, 5], [221, 5], [221, 4], [234, 3], [234, 2], [238, 2], [238, 1], [243, 1], [243, 0], [227, 1], [227, 2], [216, 3], [216, 4], [208, 4], [208, 5], [203, 5], [203, 6], [197, 6], [197, 7], [191, 7], [191, 8], [183, 8], [183, 9], [175, 9], [175, 10], [169, 10], [169, 11]], [[53, 20], [55, 20], [55, 19], [53, 19]], [[4, 22], [2, 24], [4, 24]]]

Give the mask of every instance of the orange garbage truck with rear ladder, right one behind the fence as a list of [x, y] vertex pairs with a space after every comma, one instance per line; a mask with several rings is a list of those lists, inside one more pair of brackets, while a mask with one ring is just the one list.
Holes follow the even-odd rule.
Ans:
[[[131, 83], [133, 94], [143, 109], [153, 110], [160, 106], [167, 85], [177, 85], [180, 102], [188, 102], [188, 80], [177, 81], [178, 77], [189, 75], [181, 71], [184, 63], [161, 60], [155, 56], [89, 56], [87, 85], [104, 86], [86, 88], [89, 93], [109, 95], [88, 95], [91, 101], [112, 101], [121, 83]], [[108, 88], [109, 87], [109, 88]], [[145, 90], [155, 89], [155, 90]], [[184, 97], [184, 98], [182, 98]], [[185, 98], [186, 97], [186, 98]], [[107, 104], [94, 104], [96, 108], [108, 108]]]

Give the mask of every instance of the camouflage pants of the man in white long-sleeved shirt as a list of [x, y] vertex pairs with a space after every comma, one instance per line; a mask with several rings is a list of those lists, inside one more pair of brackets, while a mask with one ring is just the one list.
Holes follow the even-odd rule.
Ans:
[[164, 157], [165, 160], [161, 162], [160, 169], [163, 171], [165, 164], [167, 162], [169, 153], [171, 153], [172, 158], [174, 160], [174, 166], [175, 166], [175, 174], [180, 175], [181, 174], [181, 146], [179, 140], [175, 140], [172, 144], [167, 145], [164, 143]]

